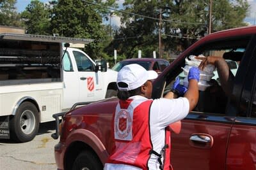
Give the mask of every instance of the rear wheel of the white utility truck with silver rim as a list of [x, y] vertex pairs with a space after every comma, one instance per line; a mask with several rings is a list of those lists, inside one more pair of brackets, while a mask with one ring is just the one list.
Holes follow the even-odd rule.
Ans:
[[18, 142], [31, 141], [39, 128], [36, 106], [30, 102], [20, 104], [16, 115], [10, 119], [10, 136]]

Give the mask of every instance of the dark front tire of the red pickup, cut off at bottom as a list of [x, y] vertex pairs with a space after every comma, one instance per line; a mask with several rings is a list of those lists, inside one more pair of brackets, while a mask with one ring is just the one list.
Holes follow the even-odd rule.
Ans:
[[72, 170], [102, 170], [103, 166], [95, 154], [89, 151], [81, 152], [72, 167]]

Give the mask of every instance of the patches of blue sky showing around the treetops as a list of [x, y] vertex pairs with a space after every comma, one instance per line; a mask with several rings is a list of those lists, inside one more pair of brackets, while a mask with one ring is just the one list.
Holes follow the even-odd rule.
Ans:
[[[48, 2], [49, 0], [40, 0], [41, 2]], [[119, 1], [124, 1], [124, 0], [119, 0]], [[248, 17], [246, 17], [244, 19], [245, 22], [249, 22], [251, 25], [255, 25], [256, 21], [255, 21], [255, 17], [256, 17], [256, 0], [247, 0], [248, 3], [251, 5], [250, 6], [250, 11], [248, 13]], [[17, 11], [24, 11], [26, 6], [28, 6], [28, 4], [30, 3], [30, 1], [28, 0], [17, 0], [17, 4], [16, 4], [16, 8]], [[119, 2], [120, 3], [120, 2]], [[118, 20], [117, 17], [113, 17], [111, 23], [113, 25], [118, 25], [118, 23], [120, 22], [120, 20]], [[111, 24], [111, 25], [112, 25]]]

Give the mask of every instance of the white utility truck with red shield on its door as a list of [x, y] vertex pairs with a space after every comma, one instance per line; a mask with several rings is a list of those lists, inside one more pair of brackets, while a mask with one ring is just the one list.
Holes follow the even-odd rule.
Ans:
[[[68, 43], [92, 39], [0, 34], [0, 138], [26, 142], [73, 104], [115, 96], [116, 71]], [[65, 47], [63, 44], [65, 43]]]

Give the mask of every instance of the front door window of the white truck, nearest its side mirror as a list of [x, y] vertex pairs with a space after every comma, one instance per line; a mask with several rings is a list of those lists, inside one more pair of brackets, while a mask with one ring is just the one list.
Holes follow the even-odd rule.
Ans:
[[74, 57], [76, 59], [76, 65], [78, 71], [93, 71], [93, 63], [81, 52], [74, 51]]

